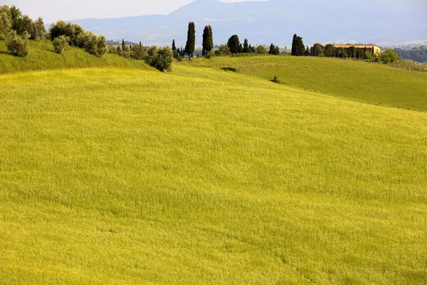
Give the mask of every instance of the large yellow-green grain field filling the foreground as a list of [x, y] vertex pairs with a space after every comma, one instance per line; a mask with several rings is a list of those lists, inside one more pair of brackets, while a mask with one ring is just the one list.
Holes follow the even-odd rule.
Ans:
[[427, 113], [200, 71], [0, 76], [2, 283], [426, 283]]

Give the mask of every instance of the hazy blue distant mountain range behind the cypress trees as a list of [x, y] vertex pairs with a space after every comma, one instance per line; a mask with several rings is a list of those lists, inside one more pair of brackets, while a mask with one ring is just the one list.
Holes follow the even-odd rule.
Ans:
[[[189, 21], [196, 24], [196, 44], [201, 45], [205, 25], [214, 31], [214, 43], [226, 43], [237, 34], [252, 45], [285, 46], [292, 36], [313, 43], [376, 43], [391, 46], [410, 41], [427, 43], [425, 0], [307, 1], [270, 0], [223, 3], [197, 0], [169, 15], [115, 19], [81, 19], [71, 22], [107, 39], [144, 45], [185, 46]], [[424, 40], [425, 39], [425, 40]]]

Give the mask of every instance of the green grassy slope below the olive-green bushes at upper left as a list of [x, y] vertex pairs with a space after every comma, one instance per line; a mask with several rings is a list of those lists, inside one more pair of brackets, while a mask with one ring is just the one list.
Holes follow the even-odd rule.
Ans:
[[97, 58], [85, 53], [81, 48], [75, 47], [70, 47], [68, 51], [58, 54], [53, 51], [51, 41], [30, 41], [30, 50], [30, 56], [19, 58], [7, 51], [5, 41], [0, 41], [0, 73], [107, 66], [151, 69], [143, 61], [131, 61], [112, 54], [105, 54], [102, 58]]

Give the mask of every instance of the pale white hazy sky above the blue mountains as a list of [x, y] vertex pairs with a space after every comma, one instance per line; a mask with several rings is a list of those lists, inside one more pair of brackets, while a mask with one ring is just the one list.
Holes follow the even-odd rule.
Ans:
[[[85, 18], [117, 18], [150, 14], [169, 14], [194, 0], [5, 0], [1, 4], [15, 5], [23, 14], [45, 24], [58, 20]], [[243, 0], [221, 0], [241, 2]], [[256, 0], [246, 0], [256, 1]], [[263, 1], [263, 0], [258, 0]]]

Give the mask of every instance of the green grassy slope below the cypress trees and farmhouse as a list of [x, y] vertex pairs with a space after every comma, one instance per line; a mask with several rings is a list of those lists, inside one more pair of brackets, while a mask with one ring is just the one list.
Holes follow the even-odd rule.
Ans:
[[[194, 58], [183, 64], [236, 68], [264, 80], [374, 104], [427, 110], [427, 73], [417, 73], [363, 61], [295, 56]], [[203, 72], [203, 71], [201, 71]]]

